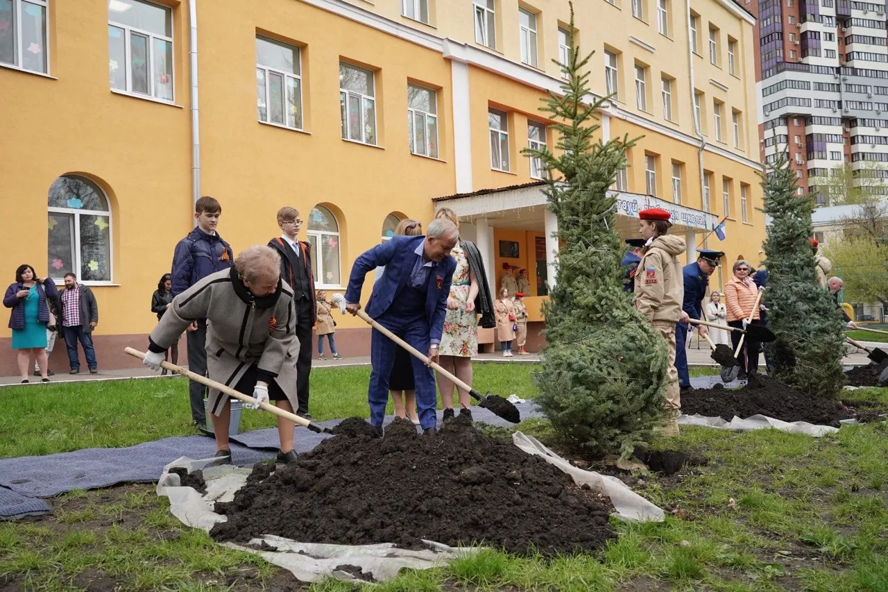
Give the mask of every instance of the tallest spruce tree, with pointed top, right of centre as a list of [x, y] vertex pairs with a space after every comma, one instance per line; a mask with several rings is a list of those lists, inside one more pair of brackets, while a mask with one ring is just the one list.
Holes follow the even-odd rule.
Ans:
[[537, 403], [567, 441], [627, 458], [662, 417], [667, 344], [622, 291], [625, 247], [614, 229], [615, 199], [608, 190], [635, 140], [593, 139], [606, 99], [591, 95], [591, 54], [580, 58], [573, 22], [571, 4], [571, 50], [567, 64], [559, 63], [567, 79], [561, 96], [550, 92], [540, 109], [559, 122], [551, 128], [563, 153], [524, 151], [550, 173], [544, 191], [563, 244], [558, 282], [543, 307], [549, 345]]

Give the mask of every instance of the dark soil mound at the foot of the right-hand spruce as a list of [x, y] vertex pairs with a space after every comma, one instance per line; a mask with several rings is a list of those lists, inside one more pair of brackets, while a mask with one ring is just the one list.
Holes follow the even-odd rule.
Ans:
[[834, 399], [824, 399], [790, 388], [782, 382], [750, 374], [742, 388], [692, 388], [681, 394], [681, 412], [732, 420], [760, 413], [783, 421], [807, 421], [839, 427], [839, 420], [857, 417], [857, 410]]

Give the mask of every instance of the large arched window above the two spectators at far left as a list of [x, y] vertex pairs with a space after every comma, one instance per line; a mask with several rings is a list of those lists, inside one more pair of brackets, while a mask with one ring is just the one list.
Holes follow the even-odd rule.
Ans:
[[91, 180], [64, 175], [49, 195], [49, 273], [84, 283], [111, 282], [111, 209]]

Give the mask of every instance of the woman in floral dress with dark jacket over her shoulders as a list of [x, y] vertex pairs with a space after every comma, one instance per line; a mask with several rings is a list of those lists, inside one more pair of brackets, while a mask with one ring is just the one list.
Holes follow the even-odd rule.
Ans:
[[[436, 218], [444, 218], [456, 224], [459, 219], [448, 208], [442, 208]], [[456, 259], [456, 270], [453, 273], [453, 284], [447, 299], [447, 316], [444, 318], [444, 333], [438, 348], [439, 364], [444, 370], [455, 374], [456, 378], [466, 384], [472, 384], [472, 356], [478, 354], [478, 316], [481, 315], [482, 326], [493, 326], [493, 302], [481, 261], [478, 247], [471, 241], [460, 239], [450, 255]], [[444, 407], [444, 420], [454, 416], [453, 391], [456, 385], [447, 377], [438, 373], [438, 389], [441, 393], [441, 404]], [[468, 391], [456, 388], [459, 394], [459, 414], [471, 420], [469, 409], [472, 399]]]

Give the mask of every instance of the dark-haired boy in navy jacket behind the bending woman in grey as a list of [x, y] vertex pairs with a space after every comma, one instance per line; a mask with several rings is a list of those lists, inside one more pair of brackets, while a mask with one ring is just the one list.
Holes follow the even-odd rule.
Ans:
[[[170, 292], [173, 298], [217, 271], [231, 268], [234, 252], [231, 246], [218, 236], [222, 206], [215, 197], [203, 196], [194, 203], [194, 220], [197, 228], [176, 244], [172, 256]], [[207, 319], [197, 318], [188, 326], [186, 333], [188, 370], [207, 374]], [[200, 382], [188, 380], [188, 398], [191, 401], [191, 419], [201, 428], [206, 423], [203, 397], [207, 388]]]

